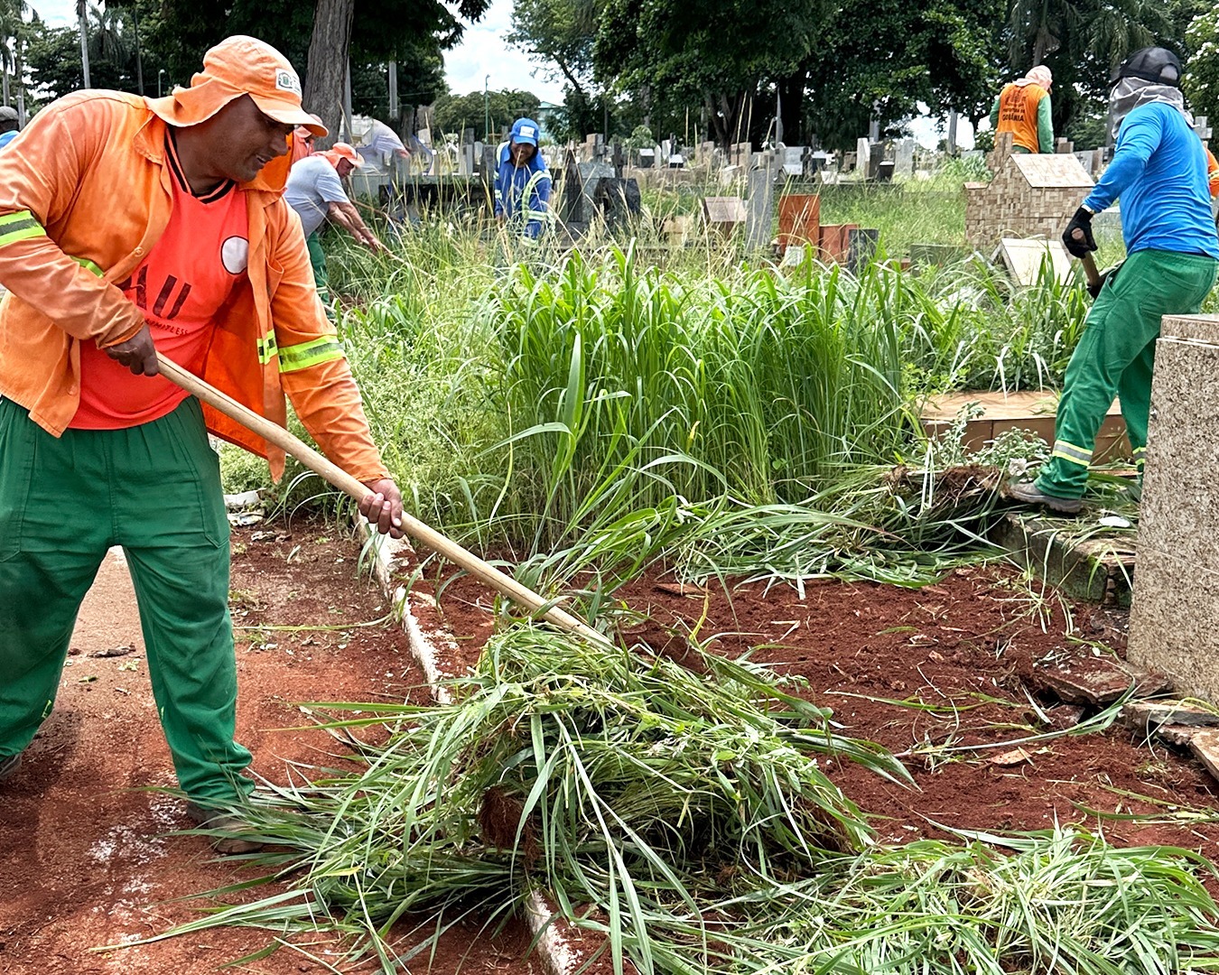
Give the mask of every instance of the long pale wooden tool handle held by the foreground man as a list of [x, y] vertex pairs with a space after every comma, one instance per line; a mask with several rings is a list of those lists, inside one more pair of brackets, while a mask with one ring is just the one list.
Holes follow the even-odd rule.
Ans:
[[[182, 386], [187, 390], [187, 392], [197, 396], [205, 403], [215, 407], [230, 419], [236, 420], [247, 430], [251, 430], [263, 440], [274, 444], [277, 447], [295, 457], [305, 464], [305, 467], [333, 484], [344, 494], [350, 495], [356, 501], [362, 501], [371, 494], [364, 484], [356, 480], [338, 464], [328, 461], [308, 446], [308, 444], [290, 434], [278, 423], [273, 423], [266, 417], [260, 417], [252, 410], [243, 406], [232, 396], [227, 396], [215, 386], [208, 385], [194, 373], [187, 372], [172, 360], [162, 356], [160, 352], [157, 352], [156, 360], [157, 366], [161, 368], [161, 374], [171, 383]], [[453, 564], [461, 566], [471, 575], [486, 583], [489, 586], [503, 594], [518, 606], [524, 607], [530, 613], [541, 615], [542, 619], [555, 624], [560, 629], [602, 645], [610, 642], [608, 637], [592, 629], [583, 620], [579, 620], [570, 613], [551, 604], [531, 589], [518, 583], [511, 575], [500, 572], [497, 568], [484, 562], [473, 552], [460, 546], [452, 539], [446, 535], [441, 535], [434, 528], [424, 524], [417, 518], [412, 518], [406, 512], [402, 512], [402, 530], [432, 551], [439, 552]]]

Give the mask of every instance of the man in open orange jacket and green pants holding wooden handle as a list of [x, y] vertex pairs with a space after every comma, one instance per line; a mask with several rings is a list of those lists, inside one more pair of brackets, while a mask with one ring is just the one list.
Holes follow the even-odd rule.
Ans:
[[50, 714], [106, 550], [135, 584], [188, 814], [241, 838], [228, 522], [207, 431], [283, 455], [157, 375], [168, 355], [284, 423], [284, 394], [360, 511], [401, 535], [401, 495], [282, 199], [288, 136], [325, 129], [274, 48], [228, 38], [163, 99], [80, 91], [0, 154], [0, 780]]

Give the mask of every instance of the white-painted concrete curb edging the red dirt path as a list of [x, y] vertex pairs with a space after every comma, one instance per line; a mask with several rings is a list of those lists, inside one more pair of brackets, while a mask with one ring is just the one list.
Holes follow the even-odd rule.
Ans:
[[[373, 558], [373, 575], [380, 585], [382, 592], [399, 613], [399, 625], [406, 633], [411, 654], [423, 668], [433, 700], [438, 704], [452, 703], [452, 695], [444, 681], [455, 675], [442, 669], [441, 661], [444, 659], [444, 650], [456, 650], [457, 641], [445, 629], [424, 629], [411, 612], [406, 586], [396, 585], [396, 579], [402, 574], [399, 570], [399, 562], [402, 556], [413, 555], [414, 548], [406, 539], [395, 540], [388, 536], [377, 536], [362, 516], [357, 514], [355, 520], [358, 537], [363, 545], [368, 546]], [[564, 936], [566, 921], [558, 919], [552, 923], [551, 919], [556, 913], [557, 908], [545, 893], [534, 891], [529, 895], [529, 899], [525, 902], [525, 921], [535, 938], [534, 951], [538, 958], [550, 975], [573, 975], [585, 959]]]

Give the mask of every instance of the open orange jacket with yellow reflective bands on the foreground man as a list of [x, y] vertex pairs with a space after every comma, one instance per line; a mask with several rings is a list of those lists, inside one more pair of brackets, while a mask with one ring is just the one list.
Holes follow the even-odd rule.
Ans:
[[[144, 325], [116, 286], [169, 222], [166, 118], [173, 96], [79, 91], [43, 108], [0, 152], [0, 395], [50, 434], [80, 401], [80, 342], [117, 345]], [[182, 124], [182, 122], [179, 122]], [[388, 477], [351, 369], [317, 296], [305, 236], [283, 200], [288, 154], [241, 184], [249, 264], [213, 322], [201, 378], [284, 425], [296, 414], [358, 480]], [[208, 406], [207, 429], [267, 457], [283, 452]]]

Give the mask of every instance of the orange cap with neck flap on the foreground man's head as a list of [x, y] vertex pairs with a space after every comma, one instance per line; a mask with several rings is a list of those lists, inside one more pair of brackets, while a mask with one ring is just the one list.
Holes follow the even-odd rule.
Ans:
[[171, 126], [206, 122], [234, 99], [249, 95], [277, 122], [300, 126], [313, 135], [327, 128], [301, 107], [301, 82], [291, 62], [265, 40], [235, 34], [204, 55], [204, 69], [190, 88], [176, 88], [163, 99], [149, 99], [154, 112]]

